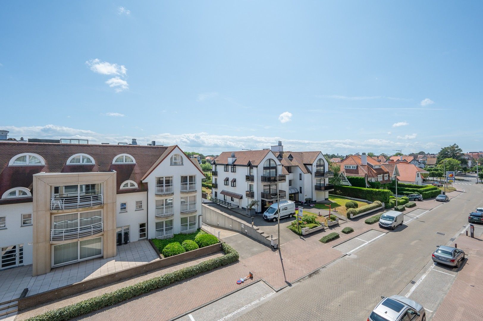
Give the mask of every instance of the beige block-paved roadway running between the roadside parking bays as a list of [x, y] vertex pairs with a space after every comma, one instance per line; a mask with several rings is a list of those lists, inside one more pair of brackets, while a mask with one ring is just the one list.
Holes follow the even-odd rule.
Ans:
[[411, 281], [417, 282], [431, 262], [436, 245], [450, 242], [468, 224], [467, 213], [482, 205], [483, 184], [461, 188], [465, 193], [232, 318], [367, 320], [381, 295], [404, 292]]

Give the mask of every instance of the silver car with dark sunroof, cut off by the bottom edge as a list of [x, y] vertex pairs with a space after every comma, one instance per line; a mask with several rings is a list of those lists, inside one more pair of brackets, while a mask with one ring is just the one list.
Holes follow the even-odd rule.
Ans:
[[383, 299], [369, 315], [368, 321], [426, 321], [426, 311], [422, 305], [400, 295]]

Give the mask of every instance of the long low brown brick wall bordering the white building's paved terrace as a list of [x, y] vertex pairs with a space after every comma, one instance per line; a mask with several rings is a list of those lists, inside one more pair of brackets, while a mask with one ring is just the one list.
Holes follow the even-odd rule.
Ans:
[[213, 254], [222, 251], [221, 245], [222, 243], [216, 243], [197, 250], [173, 255], [155, 262], [131, 267], [117, 273], [109, 274], [95, 279], [85, 280], [79, 283], [67, 285], [62, 288], [35, 294], [32, 296], [27, 296], [18, 300], [18, 309], [23, 310], [28, 307], [33, 307], [50, 301], [58, 300], [60, 298], [65, 298], [67, 296], [91, 290], [110, 283], [136, 277], [169, 265], [175, 265], [204, 255]]

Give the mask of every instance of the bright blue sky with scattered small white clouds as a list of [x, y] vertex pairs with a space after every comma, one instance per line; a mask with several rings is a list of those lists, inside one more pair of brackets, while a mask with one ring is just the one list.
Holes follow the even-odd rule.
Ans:
[[0, 129], [185, 151], [481, 151], [482, 1], [2, 1]]

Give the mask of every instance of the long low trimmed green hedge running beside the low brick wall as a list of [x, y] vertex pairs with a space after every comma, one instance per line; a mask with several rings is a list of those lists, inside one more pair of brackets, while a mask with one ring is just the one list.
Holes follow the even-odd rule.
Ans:
[[109, 307], [135, 296], [151, 292], [153, 290], [170, 285], [173, 282], [182, 281], [194, 277], [200, 273], [213, 270], [217, 267], [238, 261], [239, 254], [231, 246], [223, 243], [225, 255], [215, 257], [201, 263], [184, 267], [177, 271], [163, 274], [162, 276], [148, 279], [119, 290], [95, 296], [93, 298], [72, 304], [67, 307], [60, 307], [47, 311], [38, 316], [27, 319], [28, 321], [65, 321], [85, 313], [96, 311], [103, 307]]

